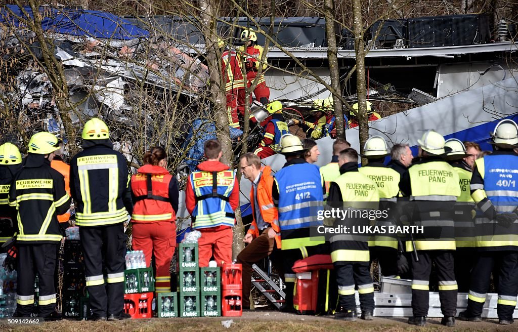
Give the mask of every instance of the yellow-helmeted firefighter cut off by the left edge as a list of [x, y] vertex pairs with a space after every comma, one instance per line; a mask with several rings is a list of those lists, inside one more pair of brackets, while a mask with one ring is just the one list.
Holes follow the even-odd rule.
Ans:
[[18, 231], [16, 208], [9, 206], [9, 188], [12, 179], [22, 169], [22, 156], [16, 145], [0, 146], [0, 252], [2, 244]]

